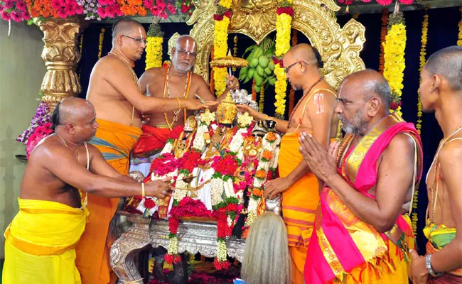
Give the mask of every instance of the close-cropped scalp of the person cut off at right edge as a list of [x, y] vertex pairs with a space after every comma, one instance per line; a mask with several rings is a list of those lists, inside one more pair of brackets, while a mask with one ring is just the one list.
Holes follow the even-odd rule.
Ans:
[[455, 91], [462, 91], [462, 46], [450, 46], [436, 51], [426, 61], [430, 76], [441, 75]]

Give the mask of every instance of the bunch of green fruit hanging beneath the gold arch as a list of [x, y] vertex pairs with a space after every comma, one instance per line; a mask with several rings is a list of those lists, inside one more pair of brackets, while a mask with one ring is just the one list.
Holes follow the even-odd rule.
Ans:
[[261, 45], [252, 45], [245, 53], [249, 53], [246, 60], [249, 66], [242, 68], [239, 73], [239, 80], [244, 80], [245, 83], [250, 80], [255, 80], [255, 92], [260, 92], [261, 88], [274, 86], [276, 77], [274, 77], [274, 55], [275, 45], [274, 40], [265, 38]]

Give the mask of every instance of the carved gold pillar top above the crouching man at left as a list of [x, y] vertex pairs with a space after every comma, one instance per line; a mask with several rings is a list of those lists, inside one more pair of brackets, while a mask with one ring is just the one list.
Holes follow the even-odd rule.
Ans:
[[77, 18], [50, 18], [37, 21], [36, 24], [43, 31], [45, 43], [42, 58], [45, 60], [47, 72], [41, 86], [45, 94], [43, 101], [53, 111], [58, 102], [82, 92], [75, 73], [80, 60], [77, 43], [80, 23]]

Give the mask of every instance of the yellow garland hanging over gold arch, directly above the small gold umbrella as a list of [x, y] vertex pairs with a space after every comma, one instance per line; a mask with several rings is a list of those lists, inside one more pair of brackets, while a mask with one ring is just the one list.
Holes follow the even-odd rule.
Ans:
[[[231, 0], [220, 0], [217, 12], [213, 15], [215, 21], [215, 29], [213, 31], [215, 38], [213, 40], [214, 57], [224, 58], [227, 52], [227, 28], [230, 25], [231, 18]], [[215, 81], [215, 94], [220, 97], [226, 89], [226, 75], [227, 70], [225, 67], [214, 67], [213, 76]]]

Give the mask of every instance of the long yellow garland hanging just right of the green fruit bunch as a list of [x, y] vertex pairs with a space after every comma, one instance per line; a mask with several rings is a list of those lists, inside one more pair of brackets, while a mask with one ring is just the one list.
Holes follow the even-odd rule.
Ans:
[[286, 111], [286, 73], [282, 67], [282, 58], [290, 49], [291, 22], [294, 16], [294, 9], [291, 7], [291, 0], [281, 0], [276, 10], [276, 51], [274, 58], [274, 75], [276, 75], [275, 93], [276, 117], [284, 118]]

